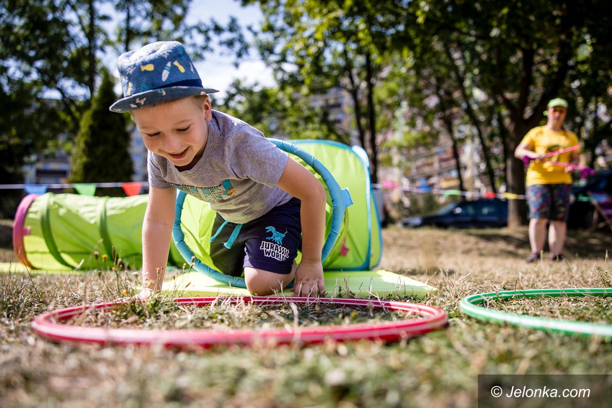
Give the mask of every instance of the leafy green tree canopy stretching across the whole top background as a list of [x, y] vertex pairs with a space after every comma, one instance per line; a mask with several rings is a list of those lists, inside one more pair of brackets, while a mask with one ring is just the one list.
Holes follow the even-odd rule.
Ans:
[[[2, 1], [0, 7], [0, 173], [18, 179], [24, 152], [76, 135], [100, 83], [100, 57], [157, 39], [178, 39], [198, 59], [247, 53], [235, 19], [188, 24], [190, 0], [111, 0], [118, 29], [107, 32], [104, 0]], [[481, 146], [490, 188], [524, 192], [513, 158], [521, 138], [542, 124], [550, 98], [570, 101], [569, 128], [590, 153], [610, 138], [612, 2], [606, 0], [242, 0], [263, 11], [254, 31], [278, 87], [239, 82], [223, 109], [280, 137], [321, 137], [367, 149], [373, 180], [385, 135], [394, 149], [435, 144]], [[238, 61], [238, 59], [237, 59]], [[353, 102], [352, 133], [308, 102], [343, 87]], [[58, 102], [42, 97], [53, 95]], [[401, 116], [401, 121], [399, 120]], [[397, 130], [398, 124], [401, 129]], [[403, 144], [403, 146], [400, 146]], [[510, 224], [524, 221], [510, 203]]]

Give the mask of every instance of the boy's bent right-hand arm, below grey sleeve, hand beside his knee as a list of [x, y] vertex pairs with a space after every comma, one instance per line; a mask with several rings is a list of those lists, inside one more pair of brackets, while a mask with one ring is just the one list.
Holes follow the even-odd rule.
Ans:
[[302, 261], [296, 271], [296, 296], [325, 291], [321, 250], [325, 236], [325, 188], [308, 169], [289, 157], [277, 186], [302, 201]]

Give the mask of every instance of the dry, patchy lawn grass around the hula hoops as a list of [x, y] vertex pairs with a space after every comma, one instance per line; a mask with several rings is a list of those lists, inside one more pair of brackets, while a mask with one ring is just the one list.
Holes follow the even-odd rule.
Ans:
[[[524, 228], [386, 229], [381, 267], [438, 287], [424, 303], [449, 314], [443, 330], [391, 344], [231, 346], [200, 352], [54, 344], [29, 327], [37, 314], [114, 300], [135, 276], [108, 268], [86, 275], [0, 274], [2, 406], [472, 407], [478, 374], [610, 373], [610, 339], [482, 322], [459, 310], [464, 296], [478, 292], [610, 286], [609, 232], [570, 231], [566, 261], [559, 263], [526, 264], [526, 236]], [[490, 306], [610, 324], [610, 298], [515, 299]], [[295, 317], [287, 305], [182, 310], [160, 302], [151, 307], [88, 316], [91, 321], [80, 324], [263, 327], [293, 324]], [[300, 308], [299, 324], [398, 317], [354, 311]]]

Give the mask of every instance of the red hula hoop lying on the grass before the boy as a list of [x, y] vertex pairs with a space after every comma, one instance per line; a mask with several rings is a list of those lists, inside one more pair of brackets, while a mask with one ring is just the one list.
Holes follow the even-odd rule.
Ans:
[[209, 305], [218, 300], [230, 301], [235, 305], [241, 302], [273, 304], [294, 302], [308, 304], [315, 302], [333, 303], [345, 306], [370, 306], [375, 309], [406, 311], [422, 316], [409, 319], [375, 324], [354, 324], [348, 326], [319, 326], [312, 328], [274, 328], [272, 330], [143, 330], [130, 328], [84, 327], [62, 324], [62, 321], [94, 309], [108, 310], [123, 302], [99, 303], [97, 305], [75, 306], [40, 314], [32, 321], [32, 329], [40, 336], [53, 341], [73, 341], [98, 344], [160, 344], [170, 348], [212, 347], [217, 345], [240, 344], [313, 344], [326, 339], [335, 341], [354, 341], [361, 339], [396, 341], [423, 335], [447, 324], [444, 311], [420, 303], [398, 302], [392, 300], [367, 300], [343, 298], [307, 297], [194, 297], [180, 298], [174, 302], [181, 304]]

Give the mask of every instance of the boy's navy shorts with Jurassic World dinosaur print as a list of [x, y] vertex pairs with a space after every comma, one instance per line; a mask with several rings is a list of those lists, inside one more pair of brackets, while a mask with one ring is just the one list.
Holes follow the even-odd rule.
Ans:
[[[300, 200], [291, 198], [255, 220], [242, 224], [231, 248], [228, 242], [237, 224], [227, 223], [211, 243], [211, 258], [219, 272], [242, 276], [244, 267], [268, 272], [291, 273], [293, 260], [302, 244]], [[217, 214], [212, 232], [222, 226], [224, 220]]]

